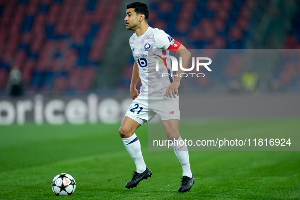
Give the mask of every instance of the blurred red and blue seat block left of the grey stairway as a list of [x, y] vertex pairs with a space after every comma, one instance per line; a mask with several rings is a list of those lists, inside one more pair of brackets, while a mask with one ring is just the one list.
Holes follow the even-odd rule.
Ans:
[[0, 90], [13, 66], [29, 91], [90, 89], [119, 2], [0, 1]]

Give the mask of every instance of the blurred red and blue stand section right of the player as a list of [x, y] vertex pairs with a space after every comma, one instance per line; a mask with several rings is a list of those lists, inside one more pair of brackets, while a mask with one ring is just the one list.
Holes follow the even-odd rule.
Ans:
[[[149, 6], [148, 22], [152, 27], [165, 30], [188, 49], [300, 49], [300, 15], [296, 14], [299, 12], [299, 5], [300, 1], [292, 0], [154, 0]], [[295, 22], [291, 27], [293, 21]], [[290, 45], [287, 46], [287, 43]], [[251, 66], [251, 60], [245, 58], [243, 51], [232, 52], [227, 52], [228, 59], [225, 58], [226, 55], [220, 58], [226, 60], [226, 63], [219, 63], [218, 70], [214, 73], [206, 74], [196, 82], [184, 79], [181, 88], [196, 86], [203, 91], [213, 92], [243, 90], [241, 76], [248, 70], [254, 70], [258, 73], [258, 86], [262, 90], [300, 89], [298, 78], [290, 75], [285, 77], [288, 81], [284, 81], [282, 76], [277, 75], [279, 69], [272, 67], [277, 66], [281, 58], [275, 62], [275, 57], [261, 68], [261, 65], [255, 66], [254, 63]], [[294, 62], [300, 61], [299, 55], [291, 57]], [[121, 88], [130, 84], [132, 63], [133, 58], [123, 69]], [[299, 76], [300, 65], [296, 66], [297, 70], [293, 72], [297, 72]], [[281, 70], [286, 73], [285, 68]]]

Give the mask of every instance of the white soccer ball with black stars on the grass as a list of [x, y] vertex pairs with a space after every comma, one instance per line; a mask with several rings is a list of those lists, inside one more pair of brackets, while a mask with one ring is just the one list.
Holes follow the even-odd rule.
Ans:
[[71, 195], [75, 191], [75, 179], [66, 173], [60, 173], [52, 181], [52, 190], [56, 195]]

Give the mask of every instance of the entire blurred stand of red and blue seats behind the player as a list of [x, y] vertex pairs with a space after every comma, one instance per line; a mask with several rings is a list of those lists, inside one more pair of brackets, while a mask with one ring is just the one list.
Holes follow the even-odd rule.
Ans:
[[[0, 0], [0, 95], [8, 94], [13, 66], [21, 70], [27, 93], [128, 90], [134, 63], [128, 39], [133, 32], [126, 31], [123, 19], [130, 2]], [[149, 25], [188, 49], [300, 49], [298, 0], [144, 2], [150, 8]], [[287, 55], [272, 68], [252, 70], [274, 90], [299, 89], [299, 56]], [[248, 70], [241, 66], [243, 59], [237, 51], [196, 84], [204, 90], [235, 85]]]

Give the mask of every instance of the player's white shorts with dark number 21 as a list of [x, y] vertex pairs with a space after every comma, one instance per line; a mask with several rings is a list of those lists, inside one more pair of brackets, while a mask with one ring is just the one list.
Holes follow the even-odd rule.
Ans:
[[143, 124], [148, 123], [156, 114], [160, 116], [161, 120], [179, 120], [179, 96], [176, 96], [176, 98], [163, 96], [158, 99], [138, 96], [132, 101], [125, 116]]

